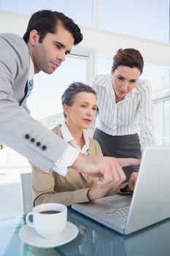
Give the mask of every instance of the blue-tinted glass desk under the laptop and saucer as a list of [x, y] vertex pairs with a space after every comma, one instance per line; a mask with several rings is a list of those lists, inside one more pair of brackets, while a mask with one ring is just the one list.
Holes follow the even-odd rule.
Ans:
[[169, 256], [170, 219], [128, 236], [122, 236], [69, 208], [68, 221], [79, 228], [73, 241], [63, 246], [41, 249], [23, 243], [18, 232], [24, 217], [0, 219], [2, 256]]

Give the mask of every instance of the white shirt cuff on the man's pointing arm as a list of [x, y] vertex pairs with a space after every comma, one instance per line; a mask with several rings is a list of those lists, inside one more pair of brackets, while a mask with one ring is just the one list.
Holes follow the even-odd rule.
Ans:
[[52, 166], [52, 169], [62, 176], [66, 176], [67, 167], [71, 166], [74, 161], [77, 159], [80, 151], [72, 146], [67, 146], [66, 150], [63, 152], [61, 157], [58, 158], [57, 162], [55, 162]]

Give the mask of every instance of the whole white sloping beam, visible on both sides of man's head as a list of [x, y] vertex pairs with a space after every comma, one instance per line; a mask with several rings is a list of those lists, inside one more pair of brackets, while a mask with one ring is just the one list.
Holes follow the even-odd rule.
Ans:
[[[0, 10], [0, 33], [12, 32], [23, 36], [30, 16]], [[112, 57], [119, 48], [136, 48], [141, 51], [144, 61], [170, 67], [170, 45], [140, 39], [114, 32], [81, 26], [84, 39], [77, 46], [97, 49], [101, 55]]]

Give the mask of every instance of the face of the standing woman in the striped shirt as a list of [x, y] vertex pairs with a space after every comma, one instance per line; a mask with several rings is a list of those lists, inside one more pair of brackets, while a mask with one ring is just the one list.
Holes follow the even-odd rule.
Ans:
[[130, 91], [136, 86], [141, 72], [136, 67], [119, 66], [112, 71], [113, 89], [117, 102], [124, 99]]

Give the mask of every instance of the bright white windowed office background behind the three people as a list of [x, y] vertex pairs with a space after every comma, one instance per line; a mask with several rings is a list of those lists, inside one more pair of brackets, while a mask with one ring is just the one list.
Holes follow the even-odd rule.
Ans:
[[[35, 75], [34, 91], [28, 98], [31, 115], [54, 127], [63, 121], [61, 94], [69, 83], [77, 80], [90, 85], [96, 74], [109, 73], [112, 56], [119, 48], [136, 48], [144, 56], [141, 78], [152, 85], [155, 144], [169, 146], [169, 0], [0, 0], [0, 33], [22, 37], [31, 14], [42, 9], [58, 10], [73, 18], [84, 39], [53, 75]], [[18, 182], [18, 173], [30, 170], [27, 159], [3, 146], [0, 186]]]

